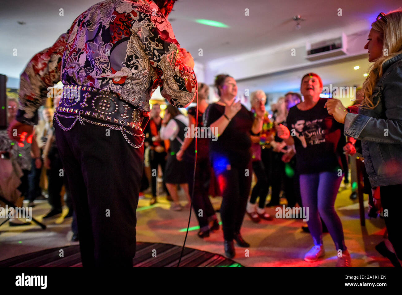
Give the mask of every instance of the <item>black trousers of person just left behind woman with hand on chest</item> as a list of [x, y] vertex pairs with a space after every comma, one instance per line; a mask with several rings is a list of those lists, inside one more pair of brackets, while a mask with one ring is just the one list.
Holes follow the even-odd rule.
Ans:
[[[193, 192], [193, 169], [194, 162], [187, 165], [189, 175], [189, 193]], [[200, 229], [205, 231], [209, 229], [209, 221], [211, 218], [215, 218], [215, 211], [211, 204], [211, 200], [208, 196], [209, 181], [211, 175], [209, 173], [211, 167], [209, 165], [209, 159], [197, 159], [197, 167], [195, 169], [195, 183], [194, 183], [194, 195], [193, 195], [193, 209], [197, 216]], [[201, 210], [201, 211], [200, 211]]]

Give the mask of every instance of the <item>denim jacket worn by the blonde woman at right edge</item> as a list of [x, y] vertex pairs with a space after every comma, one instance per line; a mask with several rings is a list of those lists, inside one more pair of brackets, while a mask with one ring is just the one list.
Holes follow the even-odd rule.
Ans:
[[402, 183], [402, 54], [383, 64], [371, 96], [374, 109], [348, 113], [345, 135], [361, 140], [372, 187]]

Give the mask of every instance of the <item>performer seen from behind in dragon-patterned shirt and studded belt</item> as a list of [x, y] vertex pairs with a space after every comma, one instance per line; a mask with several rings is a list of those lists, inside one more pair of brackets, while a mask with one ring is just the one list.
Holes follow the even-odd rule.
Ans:
[[32, 133], [47, 88], [64, 85], [53, 125], [84, 267], [132, 267], [148, 101], [158, 86], [175, 107], [195, 97], [193, 58], [167, 20], [175, 1], [95, 4], [21, 75], [13, 140]]

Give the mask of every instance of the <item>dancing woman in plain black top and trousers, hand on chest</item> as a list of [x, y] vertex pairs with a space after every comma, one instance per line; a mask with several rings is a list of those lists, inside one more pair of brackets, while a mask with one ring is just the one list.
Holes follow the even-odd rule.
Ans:
[[229, 75], [217, 75], [215, 86], [220, 100], [205, 111], [204, 126], [216, 136], [211, 140], [209, 155], [223, 197], [220, 214], [225, 254], [233, 258], [233, 239], [239, 246], [250, 246], [240, 235], [251, 186], [250, 133], [261, 131], [265, 107], [261, 104], [256, 108], [254, 116], [236, 102], [236, 81]]

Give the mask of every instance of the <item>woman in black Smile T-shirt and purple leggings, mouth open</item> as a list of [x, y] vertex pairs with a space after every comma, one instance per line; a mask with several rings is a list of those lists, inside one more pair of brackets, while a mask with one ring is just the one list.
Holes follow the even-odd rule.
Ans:
[[[314, 247], [304, 260], [312, 262], [325, 255], [322, 243], [324, 220], [338, 251], [337, 267], [350, 267], [351, 256], [345, 246], [342, 223], [334, 204], [343, 177], [343, 125], [328, 115], [326, 99], [320, 99], [322, 80], [315, 73], [301, 79], [304, 102], [293, 106], [287, 116], [287, 127], [277, 127], [278, 135], [288, 145], [295, 145], [296, 166], [300, 173], [300, 193]], [[289, 130], [290, 129], [290, 130]], [[307, 208], [309, 212], [307, 212]]]

